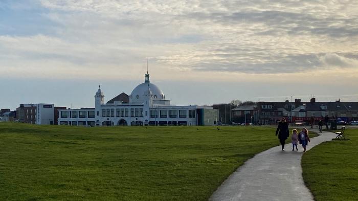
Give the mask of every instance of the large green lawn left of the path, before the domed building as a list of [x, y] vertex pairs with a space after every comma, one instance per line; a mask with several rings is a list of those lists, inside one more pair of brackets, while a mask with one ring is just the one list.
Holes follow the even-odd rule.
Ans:
[[279, 145], [273, 127], [220, 128], [0, 123], [0, 200], [207, 200]]

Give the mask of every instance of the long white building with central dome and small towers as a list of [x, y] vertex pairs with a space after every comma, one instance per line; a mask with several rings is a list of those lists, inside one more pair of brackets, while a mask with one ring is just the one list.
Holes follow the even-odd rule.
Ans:
[[94, 108], [60, 109], [59, 125], [117, 126], [117, 125], [215, 125], [218, 110], [210, 106], [177, 106], [165, 99], [163, 91], [150, 83], [145, 74], [144, 83], [136, 86], [128, 96], [121, 93], [104, 103], [99, 88]]

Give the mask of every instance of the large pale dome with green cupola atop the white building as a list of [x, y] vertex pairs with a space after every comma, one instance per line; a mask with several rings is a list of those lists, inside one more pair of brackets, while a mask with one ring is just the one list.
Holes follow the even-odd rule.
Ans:
[[152, 94], [153, 100], [165, 100], [165, 96], [158, 86], [149, 82], [149, 74], [146, 74], [146, 80], [144, 83], [136, 86], [129, 96], [130, 103], [143, 103], [143, 95], [149, 90]]

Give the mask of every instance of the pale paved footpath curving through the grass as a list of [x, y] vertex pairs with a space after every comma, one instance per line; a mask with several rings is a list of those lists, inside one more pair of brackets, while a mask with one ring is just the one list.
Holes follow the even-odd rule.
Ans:
[[[318, 132], [318, 130], [314, 130]], [[332, 132], [312, 138], [307, 150], [335, 138]], [[273, 134], [273, 137], [277, 138]], [[277, 140], [278, 141], [278, 140]], [[287, 139], [286, 142], [290, 142]], [[292, 151], [292, 144], [286, 144], [285, 150], [277, 146], [255, 155], [231, 174], [214, 192], [209, 200], [314, 200], [304, 185], [301, 157], [303, 148]]]

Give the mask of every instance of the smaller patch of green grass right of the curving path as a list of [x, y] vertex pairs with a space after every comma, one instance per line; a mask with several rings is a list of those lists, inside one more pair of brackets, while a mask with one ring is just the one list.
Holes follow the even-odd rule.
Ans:
[[324, 142], [302, 157], [303, 179], [320, 200], [358, 200], [358, 129], [346, 129], [347, 141]]

